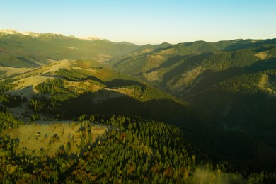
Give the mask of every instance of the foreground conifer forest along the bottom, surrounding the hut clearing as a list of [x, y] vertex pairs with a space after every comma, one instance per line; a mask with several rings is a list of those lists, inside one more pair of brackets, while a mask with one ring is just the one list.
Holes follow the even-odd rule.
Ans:
[[[227, 173], [226, 162], [212, 163], [172, 125], [130, 117], [82, 115], [81, 126], [108, 126], [96, 143], [84, 141], [79, 153], [72, 144], [54, 157], [43, 149], [35, 156], [15, 153], [18, 139], [0, 138], [0, 180], [18, 183], [273, 183], [275, 173]], [[84, 125], [85, 124], [85, 125]], [[89, 131], [83, 129], [82, 131]], [[93, 134], [93, 132], [90, 132]], [[89, 132], [88, 132], [89, 136]], [[69, 154], [70, 153], [70, 154]]]

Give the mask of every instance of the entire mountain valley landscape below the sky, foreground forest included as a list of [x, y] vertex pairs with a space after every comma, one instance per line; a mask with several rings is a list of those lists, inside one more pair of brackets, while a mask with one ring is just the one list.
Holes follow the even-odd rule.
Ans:
[[0, 31], [0, 180], [273, 183], [275, 48]]

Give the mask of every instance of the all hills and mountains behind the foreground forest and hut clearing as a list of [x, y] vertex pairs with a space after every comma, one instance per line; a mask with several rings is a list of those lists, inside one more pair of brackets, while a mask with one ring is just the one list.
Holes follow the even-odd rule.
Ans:
[[1, 105], [17, 120], [160, 121], [183, 131], [189, 154], [275, 169], [276, 39], [134, 45], [0, 30], [0, 66]]

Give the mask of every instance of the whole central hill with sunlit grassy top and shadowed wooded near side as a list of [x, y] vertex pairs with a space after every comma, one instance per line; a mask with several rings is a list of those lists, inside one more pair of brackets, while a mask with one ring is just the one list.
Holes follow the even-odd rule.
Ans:
[[[36, 115], [71, 120], [84, 114], [100, 113], [138, 115], [180, 127], [221, 129], [217, 120], [205, 110], [132, 76], [118, 73], [105, 64], [91, 60], [62, 60], [23, 71], [20, 74], [15, 68], [10, 83], [14, 87], [8, 92], [27, 98], [21, 105], [24, 108], [8, 108], [20, 119]], [[28, 106], [32, 110], [28, 110]]]

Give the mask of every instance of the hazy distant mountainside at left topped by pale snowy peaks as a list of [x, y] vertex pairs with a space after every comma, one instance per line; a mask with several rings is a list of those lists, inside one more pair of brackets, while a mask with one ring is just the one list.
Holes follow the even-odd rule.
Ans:
[[95, 59], [103, 62], [137, 48], [137, 45], [127, 42], [0, 30], [0, 64], [6, 67], [38, 67], [61, 59]]

